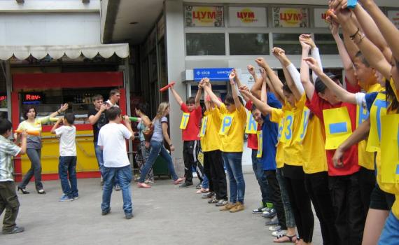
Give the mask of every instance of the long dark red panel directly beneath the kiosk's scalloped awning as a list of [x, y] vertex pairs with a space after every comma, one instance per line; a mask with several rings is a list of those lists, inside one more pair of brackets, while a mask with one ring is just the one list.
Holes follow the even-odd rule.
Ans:
[[52, 87], [123, 87], [123, 73], [114, 71], [13, 75], [14, 90]]

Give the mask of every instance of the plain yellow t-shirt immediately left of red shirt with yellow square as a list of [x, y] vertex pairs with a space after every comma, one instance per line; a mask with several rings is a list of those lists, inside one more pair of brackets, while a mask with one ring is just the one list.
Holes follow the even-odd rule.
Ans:
[[302, 141], [303, 171], [305, 174], [328, 171], [324, 144], [324, 128], [320, 119], [314, 115], [309, 119], [307, 133]]

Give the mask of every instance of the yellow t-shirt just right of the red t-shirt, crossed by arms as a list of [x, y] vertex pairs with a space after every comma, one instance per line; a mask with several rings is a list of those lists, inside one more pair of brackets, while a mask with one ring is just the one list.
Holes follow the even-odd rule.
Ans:
[[[367, 93], [370, 92], [381, 92], [384, 91], [384, 87], [381, 87], [379, 83], [371, 85], [367, 89]], [[356, 108], [356, 127], [359, 127], [363, 121], [367, 120], [369, 113], [367, 109], [357, 106]], [[366, 151], [367, 140], [360, 141], [358, 143], [358, 162], [359, 165], [366, 169], [374, 170], [374, 153]]]

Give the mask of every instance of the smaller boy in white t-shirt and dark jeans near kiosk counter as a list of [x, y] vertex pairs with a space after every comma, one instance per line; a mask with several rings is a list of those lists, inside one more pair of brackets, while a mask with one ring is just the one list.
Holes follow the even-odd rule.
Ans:
[[[73, 201], [79, 198], [78, 181], [76, 181], [76, 127], [73, 126], [74, 122], [75, 116], [72, 113], [66, 113], [64, 118], [59, 118], [51, 129], [51, 133], [59, 138], [58, 175], [62, 193], [64, 193], [59, 202]], [[58, 127], [60, 123], [62, 126]]]

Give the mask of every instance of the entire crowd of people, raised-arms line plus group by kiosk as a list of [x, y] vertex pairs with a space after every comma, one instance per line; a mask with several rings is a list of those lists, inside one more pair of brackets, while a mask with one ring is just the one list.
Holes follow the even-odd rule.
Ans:
[[[246, 183], [241, 162], [244, 134], [248, 134], [247, 146], [252, 151], [253, 171], [262, 193], [262, 206], [253, 214], [271, 218], [267, 225], [276, 237], [274, 242], [311, 244], [313, 205], [323, 244], [398, 244], [399, 204], [395, 197], [399, 196], [399, 45], [395, 42], [399, 31], [372, 0], [330, 0], [329, 5], [328, 20], [344, 78], [342, 74], [323, 72], [318, 48], [310, 35], [302, 34], [298, 36], [302, 47], [300, 71], [283, 49], [272, 50], [281, 62], [283, 81], [265, 59], [257, 58], [260, 76], [248, 65], [254, 85], [242, 85], [233, 70], [229, 76], [231, 92], [224, 102], [216, 96], [208, 78], [200, 81], [196, 97], [188, 98], [186, 103], [171, 85], [183, 112], [180, 128], [186, 178], [177, 176], [169, 155], [174, 151], [167, 133], [169, 104], [160, 104], [152, 121], [145, 115], [145, 106], [137, 106], [136, 113], [142, 119], [140, 130], [153, 130], [151, 140], [141, 135], [144, 164], [137, 186], [151, 187], [146, 179], [160, 154], [167, 160], [174, 184], [192, 186], [195, 168], [200, 181], [208, 181], [197, 193], [204, 193], [202, 197], [209, 198], [209, 203], [221, 211], [242, 211]], [[94, 105], [100, 99], [94, 97]], [[110, 211], [111, 192], [118, 179], [125, 217], [132, 218], [132, 169], [125, 148], [125, 140], [133, 137], [132, 127], [129, 118], [123, 118], [114, 106], [116, 103], [109, 104], [96, 105], [96, 111], [90, 114], [92, 125], [102, 122], [94, 139], [94, 147], [102, 155], [102, 215]], [[64, 105], [59, 110], [66, 109]], [[6, 234], [23, 231], [15, 225], [19, 203], [11, 156], [25, 152], [38, 155], [38, 164], [31, 160], [29, 179], [33, 174], [36, 179], [35, 169], [40, 167], [40, 138], [27, 139], [26, 130], [39, 127], [41, 122], [34, 120], [34, 110], [27, 111], [26, 116], [33, 123], [27, 121], [29, 127], [21, 123], [22, 132], [17, 137], [22, 139], [20, 147], [7, 140], [12, 130], [10, 122], [0, 120], [0, 213], [6, 209]], [[74, 116], [66, 113], [51, 130], [60, 140], [62, 201], [78, 198], [73, 121]], [[61, 122], [62, 127], [58, 127]], [[200, 149], [203, 168], [198, 160]], [[22, 193], [27, 193], [25, 182], [18, 186]], [[36, 188], [44, 193], [40, 179], [36, 180]]]

